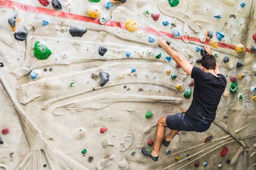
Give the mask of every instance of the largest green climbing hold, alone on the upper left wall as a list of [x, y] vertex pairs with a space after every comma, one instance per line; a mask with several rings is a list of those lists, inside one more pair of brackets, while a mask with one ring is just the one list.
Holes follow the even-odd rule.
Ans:
[[35, 42], [34, 56], [40, 60], [46, 60], [52, 54], [52, 51], [40, 41]]

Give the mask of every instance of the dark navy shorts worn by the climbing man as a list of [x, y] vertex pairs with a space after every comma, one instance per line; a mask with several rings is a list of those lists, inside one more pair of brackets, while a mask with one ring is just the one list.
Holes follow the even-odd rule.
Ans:
[[182, 113], [169, 115], [166, 117], [165, 121], [169, 129], [187, 132], [205, 132], [211, 126], [211, 123], [204, 123], [200, 120], [188, 117], [186, 114]]

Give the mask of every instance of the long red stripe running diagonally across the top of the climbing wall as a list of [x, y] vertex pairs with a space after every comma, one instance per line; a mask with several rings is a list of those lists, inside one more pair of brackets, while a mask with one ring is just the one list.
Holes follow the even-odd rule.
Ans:
[[[67, 12], [62, 12], [62, 11], [57, 11], [57, 10], [51, 10], [51, 9], [47, 9], [47, 8], [43, 8], [43, 7], [39, 7], [39, 6], [27, 5], [27, 4], [14, 2], [14, 1], [10, 1], [10, 0], [0, 0], [0, 7], [12, 8], [13, 6], [16, 6], [19, 10], [30, 12], [30, 13], [46, 14], [46, 15], [56, 16], [56, 17], [60, 17], [60, 18], [73, 19], [73, 20], [78, 20], [78, 21], [83, 21], [83, 22], [100, 24], [99, 19], [95, 19], [95, 18], [83, 16], [83, 15], [77, 15], [77, 14], [72, 14], [72, 13], [67, 13]], [[24, 8], [24, 6], [26, 6], [26, 8]], [[121, 29], [127, 29], [125, 23], [116, 22], [116, 21], [108, 21], [105, 23], [105, 26], [119, 27]], [[153, 28], [139, 27], [139, 30], [142, 30], [148, 34], [154, 34], [157, 36], [165, 36], [165, 37], [174, 38], [174, 35], [172, 33], [164, 32], [164, 31], [157, 31]], [[181, 40], [186, 39], [188, 41], [194, 41], [194, 42], [197, 42], [200, 44], [209, 45], [209, 40], [206, 40], [204, 43], [201, 43], [200, 39], [195, 38], [195, 37], [181, 36], [177, 39], [181, 39]], [[235, 50], [236, 46], [218, 42], [218, 47]], [[248, 48], [246, 48], [245, 51], [249, 52]]]

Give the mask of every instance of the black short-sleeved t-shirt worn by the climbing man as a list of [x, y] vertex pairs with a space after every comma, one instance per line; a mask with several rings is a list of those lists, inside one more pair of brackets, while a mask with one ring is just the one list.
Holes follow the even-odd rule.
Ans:
[[187, 116], [207, 122], [213, 122], [216, 110], [226, 88], [224, 75], [206, 73], [198, 67], [193, 67], [191, 78], [195, 80], [193, 100], [187, 110]]

